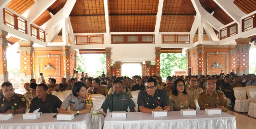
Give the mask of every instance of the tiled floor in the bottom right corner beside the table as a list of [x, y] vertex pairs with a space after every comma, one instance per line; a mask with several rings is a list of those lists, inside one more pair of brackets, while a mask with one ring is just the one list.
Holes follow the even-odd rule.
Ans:
[[246, 114], [239, 114], [228, 110], [226, 113], [236, 117], [236, 129], [256, 129], [256, 119], [248, 117]]

